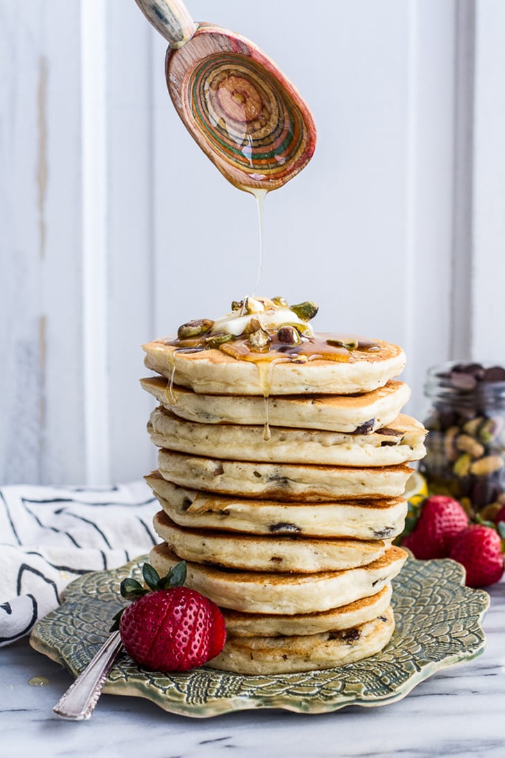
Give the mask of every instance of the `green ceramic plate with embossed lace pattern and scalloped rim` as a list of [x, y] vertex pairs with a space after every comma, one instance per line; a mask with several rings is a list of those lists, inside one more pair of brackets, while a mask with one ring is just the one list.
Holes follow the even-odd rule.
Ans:
[[[32, 646], [78, 675], [122, 605], [120, 581], [139, 577], [146, 557], [73, 581], [64, 604], [34, 628]], [[324, 713], [393, 703], [439, 669], [484, 650], [481, 622], [489, 597], [462, 583], [463, 568], [454, 561], [409, 558], [394, 581], [396, 631], [390, 643], [378, 655], [338, 669], [247, 676], [201, 668], [164, 675], [140, 669], [121, 653], [104, 692], [146, 697], [170, 713], [199, 717], [252, 708]]]

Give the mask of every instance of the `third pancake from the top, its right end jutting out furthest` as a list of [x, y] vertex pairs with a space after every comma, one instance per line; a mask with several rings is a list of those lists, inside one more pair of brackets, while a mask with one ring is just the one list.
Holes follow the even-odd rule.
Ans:
[[158, 447], [235, 461], [271, 461], [333, 466], [390, 466], [416, 461], [426, 453], [426, 430], [419, 421], [399, 415], [387, 428], [371, 434], [241, 424], [199, 424], [158, 407], [148, 421]]

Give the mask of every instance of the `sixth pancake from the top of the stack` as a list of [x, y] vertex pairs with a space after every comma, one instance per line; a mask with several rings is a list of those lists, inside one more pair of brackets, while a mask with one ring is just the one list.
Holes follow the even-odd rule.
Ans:
[[154, 531], [179, 558], [241, 571], [342, 571], [381, 558], [391, 542], [385, 540], [317, 539], [224, 531], [185, 529], [164, 511], [154, 515]]

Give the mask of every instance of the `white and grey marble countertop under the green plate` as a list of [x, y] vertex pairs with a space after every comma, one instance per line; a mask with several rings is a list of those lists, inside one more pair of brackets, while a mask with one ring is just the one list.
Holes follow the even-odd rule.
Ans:
[[[52, 756], [503, 756], [505, 581], [490, 587], [485, 652], [422, 682], [388, 706], [304, 715], [243, 711], [212, 719], [165, 713], [136, 697], [102, 695], [89, 722], [51, 708], [71, 682], [25, 638], [0, 650], [0, 753]], [[45, 678], [33, 686], [30, 679]]]

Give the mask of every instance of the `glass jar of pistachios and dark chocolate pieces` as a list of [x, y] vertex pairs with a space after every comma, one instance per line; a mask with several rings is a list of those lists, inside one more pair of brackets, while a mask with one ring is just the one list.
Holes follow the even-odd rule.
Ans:
[[505, 368], [450, 362], [430, 368], [426, 457], [430, 494], [455, 497], [492, 520], [505, 504]]

